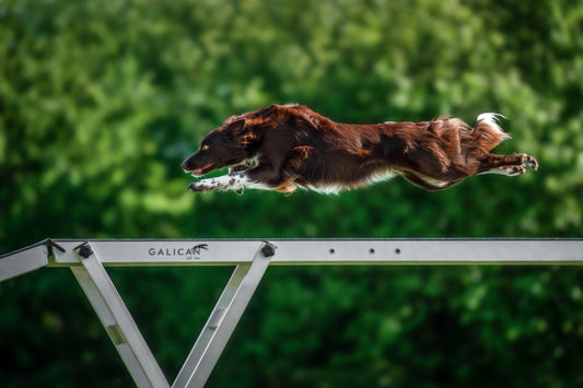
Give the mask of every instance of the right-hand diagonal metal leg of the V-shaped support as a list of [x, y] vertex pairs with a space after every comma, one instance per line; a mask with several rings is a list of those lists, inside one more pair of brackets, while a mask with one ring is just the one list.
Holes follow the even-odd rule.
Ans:
[[275, 254], [276, 246], [264, 242], [250, 263], [236, 267], [173, 388], [205, 386]]

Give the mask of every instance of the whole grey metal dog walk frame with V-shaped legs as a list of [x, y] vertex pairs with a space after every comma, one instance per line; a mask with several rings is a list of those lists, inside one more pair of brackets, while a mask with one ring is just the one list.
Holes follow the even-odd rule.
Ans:
[[583, 264], [583, 239], [47, 239], [0, 256], [0, 282], [68, 267], [138, 387], [171, 387], [104, 266], [235, 266], [172, 387], [202, 387], [270, 264]]

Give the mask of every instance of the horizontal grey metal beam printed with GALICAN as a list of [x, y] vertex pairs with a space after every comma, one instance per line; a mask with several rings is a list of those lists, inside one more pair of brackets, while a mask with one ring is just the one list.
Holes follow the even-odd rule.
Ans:
[[[57, 240], [54, 266], [77, 262], [80, 240]], [[237, 266], [249, 263], [257, 239], [91, 240], [104, 266]], [[582, 264], [583, 239], [272, 239], [271, 264]]]

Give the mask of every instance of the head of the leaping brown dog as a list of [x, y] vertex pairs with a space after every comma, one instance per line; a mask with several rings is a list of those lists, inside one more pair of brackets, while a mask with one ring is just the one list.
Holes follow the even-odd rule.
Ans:
[[245, 117], [231, 117], [209, 132], [199, 150], [183, 163], [183, 169], [200, 176], [218, 168], [237, 165], [253, 156], [257, 134], [245, 125]]

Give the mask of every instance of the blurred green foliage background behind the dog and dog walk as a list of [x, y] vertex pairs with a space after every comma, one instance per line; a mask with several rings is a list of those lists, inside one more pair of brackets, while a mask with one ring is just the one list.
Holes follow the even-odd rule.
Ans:
[[[583, 3], [0, 1], [0, 254], [46, 237], [581, 237]], [[540, 168], [194, 195], [226, 117], [499, 111]], [[231, 268], [109, 269], [172, 381]], [[579, 267], [270, 268], [209, 387], [583, 385]], [[132, 381], [66, 270], [0, 284], [2, 387]]]

